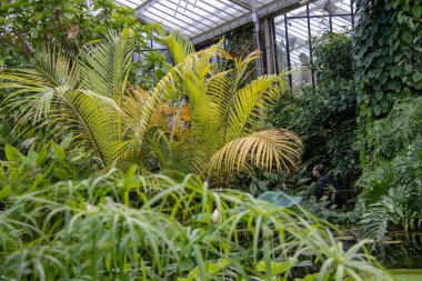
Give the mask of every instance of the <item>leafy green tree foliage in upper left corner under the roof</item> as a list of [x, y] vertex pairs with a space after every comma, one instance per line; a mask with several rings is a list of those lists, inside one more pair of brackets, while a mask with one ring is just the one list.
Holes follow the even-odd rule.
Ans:
[[[135, 61], [130, 81], [151, 88], [154, 70], [165, 66], [165, 58], [150, 48], [153, 26], [141, 24], [132, 9], [109, 0], [17, 0], [0, 6], [0, 67], [28, 66], [36, 57], [36, 48], [50, 43], [78, 56], [87, 42], [104, 39], [109, 30], [130, 27], [134, 33], [134, 52], [145, 59]], [[139, 70], [149, 76], [137, 77]], [[157, 72], [157, 79], [163, 76]]]

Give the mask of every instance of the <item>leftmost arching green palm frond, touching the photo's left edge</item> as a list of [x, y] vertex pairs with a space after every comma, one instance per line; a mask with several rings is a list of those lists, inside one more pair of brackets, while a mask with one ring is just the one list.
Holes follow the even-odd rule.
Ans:
[[58, 96], [73, 89], [78, 72], [71, 58], [58, 48], [43, 47], [36, 54], [37, 66], [29, 69], [0, 70], [0, 88], [13, 89], [2, 101], [2, 107], [19, 109], [20, 116], [13, 134], [22, 138], [29, 127], [46, 126], [49, 116], [59, 107]]

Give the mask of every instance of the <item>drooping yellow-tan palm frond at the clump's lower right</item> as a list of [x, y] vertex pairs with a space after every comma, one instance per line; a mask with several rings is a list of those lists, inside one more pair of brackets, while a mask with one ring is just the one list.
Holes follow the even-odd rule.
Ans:
[[248, 167], [282, 172], [294, 169], [300, 160], [302, 143], [287, 130], [265, 130], [232, 140], [210, 160], [210, 170], [241, 172]]

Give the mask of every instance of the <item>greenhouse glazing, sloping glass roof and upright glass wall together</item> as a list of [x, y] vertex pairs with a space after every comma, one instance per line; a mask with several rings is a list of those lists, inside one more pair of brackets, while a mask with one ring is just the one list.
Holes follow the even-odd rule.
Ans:
[[[229, 33], [252, 34], [252, 49], [261, 49], [257, 70], [289, 74], [291, 87], [314, 83], [312, 38], [326, 31], [349, 32], [354, 26], [353, 0], [114, 0], [137, 11], [144, 23], [160, 22], [164, 29], [179, 30], [199, 48]], [[242, 29], [242, 30], [241, 30]], [[243, 36], [240, 33], [243, 32]], [[230, 42], [229, 42], [230, 43]], [[151, 42], [151, 48], [155, 43]], [[157, 49], [164, 51], [164, 47]], [[260, 72], [258, 74], [261, 74]]]

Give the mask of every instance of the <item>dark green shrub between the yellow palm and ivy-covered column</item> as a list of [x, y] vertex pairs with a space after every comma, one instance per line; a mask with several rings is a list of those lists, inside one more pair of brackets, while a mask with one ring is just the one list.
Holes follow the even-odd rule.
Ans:
[[324, 163], [338, 185], [350, 187], [360, 171], [352, 149], [356, 140], [356, 93], [351, 39], [325, 33], [313, 41], [315, 88], [287, 92], [271, 111], [269, 122], [302, 138], [304, 165]]

